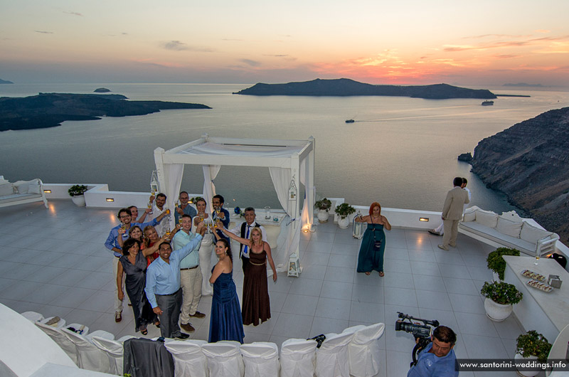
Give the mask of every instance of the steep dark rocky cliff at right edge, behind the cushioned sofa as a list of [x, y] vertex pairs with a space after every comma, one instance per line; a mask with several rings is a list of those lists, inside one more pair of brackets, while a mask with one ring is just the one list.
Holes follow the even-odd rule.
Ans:
[[472, 171], [569, 240], [569, 107], [514, 124], [474, 149]]

